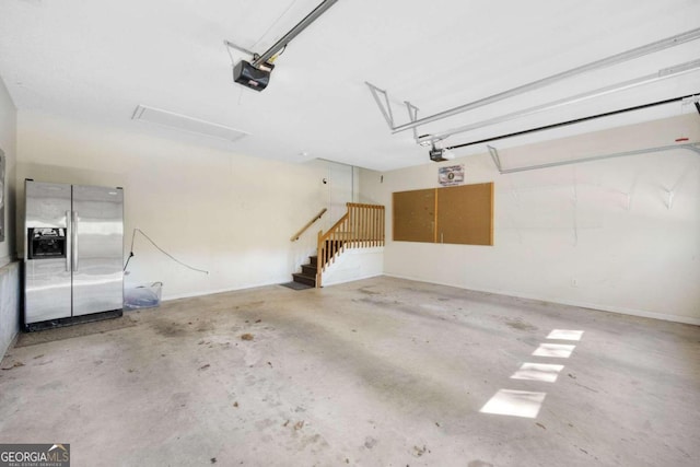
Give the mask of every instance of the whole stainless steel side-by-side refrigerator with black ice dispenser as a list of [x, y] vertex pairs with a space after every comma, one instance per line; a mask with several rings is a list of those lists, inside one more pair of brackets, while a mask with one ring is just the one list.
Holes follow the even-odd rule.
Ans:
[[25, 182], [24, 327], [121, 316], [121, 188]]

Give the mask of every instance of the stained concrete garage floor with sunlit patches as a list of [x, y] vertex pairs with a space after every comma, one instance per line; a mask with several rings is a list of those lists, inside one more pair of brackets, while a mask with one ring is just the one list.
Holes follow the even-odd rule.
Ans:
[[11, 349], [0, 442], [73, 466], [700, 465], [696, 326], [392, 278], [122, 319]]

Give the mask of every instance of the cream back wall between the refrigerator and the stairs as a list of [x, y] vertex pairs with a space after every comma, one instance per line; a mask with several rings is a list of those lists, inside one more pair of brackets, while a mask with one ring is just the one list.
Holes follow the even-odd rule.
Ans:
[[320, 227], [290, 237], [328, 208], [326, 162], [254, 159], [24, 110], [18, 135], [18, 180], [121, 186], [125, 254], [139, 227], [210, 272], [177, 265], [137, 235], [127, 287], [162, 281], [167, 300], [289, 282], [315, 252]]

